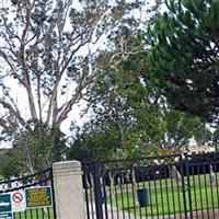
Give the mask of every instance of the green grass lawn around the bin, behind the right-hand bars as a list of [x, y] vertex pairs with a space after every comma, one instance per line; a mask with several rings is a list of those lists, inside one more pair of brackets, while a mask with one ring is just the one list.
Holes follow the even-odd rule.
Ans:
[[[187, 189], [186, 183], [185, 180], [184, 193], [182, 182], [177, 183], [173, 178], [142, 182], [135, 185], [123, 184], [114, 186], [114, 188], [108, 187], [107, 193], [113, 194], [115, 192], [116, 195], [113, 198], [108, 196], [107, 203], [120, 210], [129, 210], [141, 216], [174, 215], [184, 212], [185, 208], [187, 211], [191, 208], [196, 211], [219, 207], [219, 184], [217, 181], [215, 185], [210, 185], [210, 178], [207, 174], [189, 176], [191, 192]], [[136, 204], [136, 191], [138, 188], [149, 191], [150, 205], [148, 207], [140, 208]], [[189, 203], [192, 206], [189, 206]]]

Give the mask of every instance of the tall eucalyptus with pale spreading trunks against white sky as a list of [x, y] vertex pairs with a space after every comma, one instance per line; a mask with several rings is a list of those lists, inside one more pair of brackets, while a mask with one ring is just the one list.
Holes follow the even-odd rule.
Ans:
[[[27, 120], [60, 128], [102, 68], [104, 53], [97, 46], [119, 34], [127, 43], [124, 30], [137, 28], [138, 19], [131, 10], [140, 10], [140, 4], [117, 0], [76, 4], [71, 0], [13, 0], [2, 7], [2, 136], [11, 136]], [[128, 50], [119, 54], [127, 55]]]

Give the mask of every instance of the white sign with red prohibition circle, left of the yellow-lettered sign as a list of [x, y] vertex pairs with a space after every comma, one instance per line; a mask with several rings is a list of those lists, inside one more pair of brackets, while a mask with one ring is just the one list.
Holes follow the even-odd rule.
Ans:
[[23, 191], [14, 191], [11, 193], [12, 211], [24, 211], [26, 209], [26, 200]]

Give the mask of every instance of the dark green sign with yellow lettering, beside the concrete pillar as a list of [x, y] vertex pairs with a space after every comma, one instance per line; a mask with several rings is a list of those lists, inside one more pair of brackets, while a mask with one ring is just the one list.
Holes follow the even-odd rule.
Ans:
[[51, 187], [26, 188], [26, 208], [41, 208], [53, 206]]

